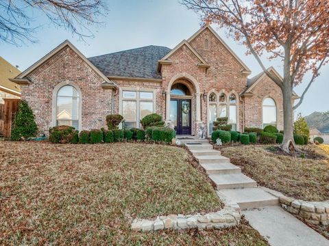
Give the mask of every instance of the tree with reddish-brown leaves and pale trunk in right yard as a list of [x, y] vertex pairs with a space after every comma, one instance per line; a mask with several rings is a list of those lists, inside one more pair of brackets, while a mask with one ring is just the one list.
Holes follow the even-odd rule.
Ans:
[[[180, 0], [199, 14], [204, 23], [225, 27], [234, 40], [242, 40], [263, 71], [282, 90], [284, 139], [282, 149], [296, 149], [293, 109], [302, 103], [319, 70], [329, 59], [328, 0]], [[261, 59], [282, 61], [283, 81], [269, 72]], [[293, 106], [293, 87], [313, 72], [306, 90]]]

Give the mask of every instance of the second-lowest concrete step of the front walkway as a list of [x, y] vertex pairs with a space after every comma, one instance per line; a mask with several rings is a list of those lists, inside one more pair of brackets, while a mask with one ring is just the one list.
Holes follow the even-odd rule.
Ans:
[[217, 189], [234, 189], [256, 187], [256, 181], [244, 174], [210, 174], [209, 178], [215, 182]]

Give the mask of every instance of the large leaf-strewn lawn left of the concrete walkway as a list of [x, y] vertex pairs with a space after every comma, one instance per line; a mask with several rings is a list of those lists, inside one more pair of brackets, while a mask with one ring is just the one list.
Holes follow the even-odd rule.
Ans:
[[132, 232], [135, 217], [221, 209], [186, 150], [0, 141], [0, 245], [267, 245], [226, 230]]

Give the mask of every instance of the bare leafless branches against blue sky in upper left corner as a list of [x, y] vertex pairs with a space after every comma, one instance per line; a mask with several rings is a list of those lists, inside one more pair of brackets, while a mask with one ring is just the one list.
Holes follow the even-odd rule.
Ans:
[[0, 0], [0, 40], [19, 45], [36, 42], [34, 10], [58, 27], [64, 27], [81, 38], [93, 36], [89, 26], [103, 14], [102, 0]]

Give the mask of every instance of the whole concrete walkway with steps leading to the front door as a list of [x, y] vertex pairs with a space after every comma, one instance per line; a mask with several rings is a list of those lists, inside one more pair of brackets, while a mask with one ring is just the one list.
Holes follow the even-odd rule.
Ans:
[[[239, 204], [250, 225], [273, 246], [329, 246], [329, 241], [278, 206], [278, 197], [257, 187], [240, 167], [213, 150], [207, 139], [180, 139], [217, 185], [217, 192]], [[256, 208], [256, 209], [255, 209]]]

